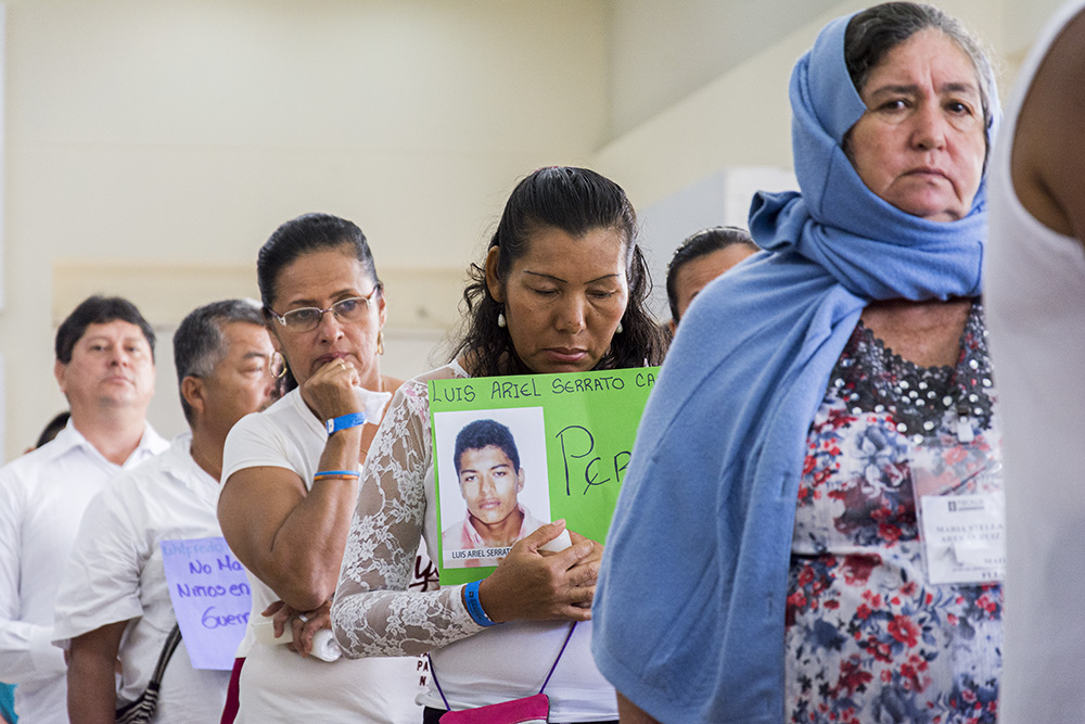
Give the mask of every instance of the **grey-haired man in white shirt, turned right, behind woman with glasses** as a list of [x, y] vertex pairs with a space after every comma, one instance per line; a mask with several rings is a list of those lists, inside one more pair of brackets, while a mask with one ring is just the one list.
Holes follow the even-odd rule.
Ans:
[[[146, 688], [177, 622], [159, 542], [222, 535], [215, 512], [222, 446], [234, 422], [270, 404], [271, 354], [253, 302], [208, 304], [177, 329], [174, 360], [191, 433], [119, 475], [91, 503], [56, 597], [53, 639], [69, 649], [73, 724], [112, 723], [115, 710]], [[152, 721], [217, 723], [229, 677], [228, 671], [194, 670], [182, 639]]]

